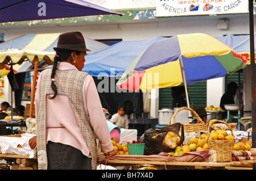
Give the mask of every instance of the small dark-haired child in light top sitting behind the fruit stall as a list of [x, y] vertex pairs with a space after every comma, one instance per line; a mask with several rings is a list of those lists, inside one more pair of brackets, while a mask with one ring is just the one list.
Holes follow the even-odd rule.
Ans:
[[111, 117], [110, 122], [117, 125], [119, 128], [129, 129], [129, 121], [125, 113], [125, 106], [123, 104], [119, 104], [117, 110], [117, 113]]

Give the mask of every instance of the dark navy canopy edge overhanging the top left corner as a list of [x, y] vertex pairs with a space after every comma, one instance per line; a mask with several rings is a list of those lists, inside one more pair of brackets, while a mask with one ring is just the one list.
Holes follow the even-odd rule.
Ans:
[[82, 0], [8, 0], [0, 4], [0, 23], [108, 14], [124, 15]]

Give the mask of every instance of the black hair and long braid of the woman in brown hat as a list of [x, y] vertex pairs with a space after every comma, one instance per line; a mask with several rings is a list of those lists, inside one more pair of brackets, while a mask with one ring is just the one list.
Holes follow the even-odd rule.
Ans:
[[[67, 51], [56, 52], [56, 56], [54, 57], [54, 60], [53, 60], [52, 74], [51, 74], [51, 80], [52, 80], [51, 87], [54, 92], [54, 95], [49, 96], [49, 99], [54, 99], [57, 96], [57, 86], [55, 85], [54, 77], [55, 77], [55, 72], [57, 70], [58, 62], [67, 61], [72, 52], [74, 52], [74, 51], [67, 50]], [[75, 52], [77, 55], [79, 55], [81, 53], [81, 52], [77, 52], [77, 51], [75, 51]]]

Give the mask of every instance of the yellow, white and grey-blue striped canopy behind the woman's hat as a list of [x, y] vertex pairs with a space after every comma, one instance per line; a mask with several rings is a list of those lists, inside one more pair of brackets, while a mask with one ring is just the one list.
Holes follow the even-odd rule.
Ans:
[[[3, 64], [13, 64], [13, 69], [17, 72], [26, 71], [35, 61], [46, 61], [52, 65], [55, 51], [53, 47], [57, 46], [60, 33], [40, 33], [32, 35], [22, 35], [14, 39], [0, 43], [0, 75], [7, 75], [10, 70]], [[84, 37], [86, 47], [91, 52], [98, 52], [101, 49], [109, 47], [104, 43]], [[25, 61], [24, 60], [29, 60]]]

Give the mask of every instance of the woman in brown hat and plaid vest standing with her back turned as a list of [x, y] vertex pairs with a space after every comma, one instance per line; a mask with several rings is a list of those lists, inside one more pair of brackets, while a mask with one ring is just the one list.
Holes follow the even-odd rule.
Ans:
[[80, 32], [61, 34], [53, 49], [53, 68], [42, 71], [37, 83], [37, 130], [30, 146], [37, 148], [39, 169], [96, 169], [96, 137], [108, 157], [117, 151], [93, 78], [81, 72], [90, 50]]

